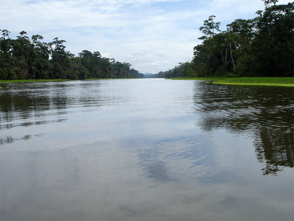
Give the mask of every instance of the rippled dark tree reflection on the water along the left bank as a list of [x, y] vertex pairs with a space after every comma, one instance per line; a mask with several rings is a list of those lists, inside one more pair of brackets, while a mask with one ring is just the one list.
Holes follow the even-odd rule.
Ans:
[[[89, 83], [13, 83], [2, 84], [0, 91], [0, 131], [15, 127], [62, 123], [66, 114], [76, 111], [97, 110], [103, 104], [97, 96], [99, 83], [89, 90]], [[28, 140], [44, 134], [23, 137], [6, 136], [0, 144]]]

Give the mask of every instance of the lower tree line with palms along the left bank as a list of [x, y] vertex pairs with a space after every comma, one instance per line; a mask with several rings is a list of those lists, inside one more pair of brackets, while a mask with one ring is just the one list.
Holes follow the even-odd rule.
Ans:
[[99, 52], [84, 50], [74, 56], [65, 50], [65, 40], [41, 42], [42, 35], [30, 39], [25, 31], [11, 39], [8, 30], [0, 31], [0, 80], [144, 78], [131, 64], [102, 57]]

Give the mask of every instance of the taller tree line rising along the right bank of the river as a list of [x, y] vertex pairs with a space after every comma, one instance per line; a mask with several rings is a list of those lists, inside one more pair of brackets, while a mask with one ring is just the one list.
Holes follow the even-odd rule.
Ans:
[[294, 2], [262, 1], [256, 18], [236, 19], [225, 31], [209, 16], [191, 62], [147, 77], [293, 77]]

